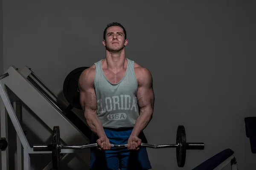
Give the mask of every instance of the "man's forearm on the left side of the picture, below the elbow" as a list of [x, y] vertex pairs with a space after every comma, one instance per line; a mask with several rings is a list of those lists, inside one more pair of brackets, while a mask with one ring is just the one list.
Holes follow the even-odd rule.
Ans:
[[87, 125], [89, 126], [90, 130], [93, 131], [93, 133], [99, 136], [99, 138], [106, 136], [102, 126], [102, 122], [100, 121], [96, 113], [90, 113], [90, 111], [85, 111], [84, 117], [86, 119]]

